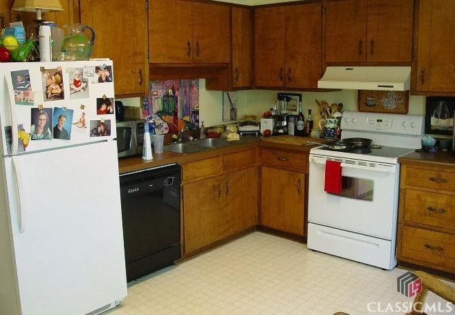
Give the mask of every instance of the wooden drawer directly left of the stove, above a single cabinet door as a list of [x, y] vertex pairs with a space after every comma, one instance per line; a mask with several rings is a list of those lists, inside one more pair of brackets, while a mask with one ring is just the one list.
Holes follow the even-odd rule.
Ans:
[[297, 171], [306, 170], [307, 155], [304, 153], [293, 153], [278, 150], [261, 150], [262, 165], [279, 166]]

